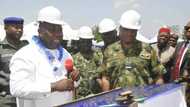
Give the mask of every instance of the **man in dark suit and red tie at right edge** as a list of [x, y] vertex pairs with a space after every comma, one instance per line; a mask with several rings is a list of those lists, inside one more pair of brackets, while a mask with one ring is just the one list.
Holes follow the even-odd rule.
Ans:
[[171, 70], [172, 80], [178, 80], [179, 78], [188, 79], [186, 99], [187, 107], [190, 106], [190, 22], [188, 22], [184, 27], [185, 40], [177, 44], [176, 51], [174, 53], [174, 64]]

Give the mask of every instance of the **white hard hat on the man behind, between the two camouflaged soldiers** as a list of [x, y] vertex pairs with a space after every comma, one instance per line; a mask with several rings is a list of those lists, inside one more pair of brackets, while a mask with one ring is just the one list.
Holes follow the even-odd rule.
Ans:
[[116, 24], [112, 19], [105, 18], [99, 23], [98, 27], [100, 33], [105, 33], [116, 29]]

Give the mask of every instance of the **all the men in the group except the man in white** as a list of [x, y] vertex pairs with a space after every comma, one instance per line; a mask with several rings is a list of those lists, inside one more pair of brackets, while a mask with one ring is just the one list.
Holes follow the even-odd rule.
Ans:
[[[20, 39], [23, 25], [24, 19], [19, 17], [4, 19], [6, 36], [0, 43], [1, 107], [16, 106], [9, 92], [9, 61], [18, 49], [29, 42]], [[159, 29], [155, 44], [137, 40], [141, 15], [134, 10], [122, 14], [118, 28], [113, 20], [105, 18], [99, 23], [98, 29], [104, 42], [99, 49], [92, 48], [95, 37], [88, 26], [79, 29], [79, 40], [72, 40], [70, 47], [67, 47], [67, 40], [61, 41], [72, 54], [74, 66], [80, 71], [76, 98], [117, 87], [164, 84], [180, 77], [189, 77], [190, 22], [184, 27], [184, 41], [180, 43], [177, 42], [178, 36], [172, 34], [167, 26]]]

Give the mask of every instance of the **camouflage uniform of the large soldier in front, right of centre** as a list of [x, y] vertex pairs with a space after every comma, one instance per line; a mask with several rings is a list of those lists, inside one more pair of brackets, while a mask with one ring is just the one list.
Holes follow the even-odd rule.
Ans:
[[122, 49], [120, 42], [106, 48], [104, 75], [110, 80], [111, 88], [151, 84], [158, 75], [166, 72], [156, 52], [139, 41], [130, 49]]

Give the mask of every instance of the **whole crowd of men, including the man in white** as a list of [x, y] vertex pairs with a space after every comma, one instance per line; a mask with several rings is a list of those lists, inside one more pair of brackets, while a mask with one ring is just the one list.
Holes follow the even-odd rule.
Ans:
[[[190, 22], [184, 40], [167, 26], [158, 29], [157, 42], [137, 40], [141, 15], [128, 10], [119, 27], [110, 18], [98, 24], [104, 45], [92, 48], [89, 26], [74, 31], [53, 6], [41, 9], [34, 27], [22, 37], [24, 19], [4, 19], [0, 42], [0, 106], [49, 107], [117, 87], [165, 84], [179, 80], [190, 90]], [[68, 39], [75, 36], [75, 39]], [[71, 59], [72, 69], [66, 67]], [[187, 104], [190, 96], [186, 93]], [[56, 105], [55, 105], [56, 104]]]

